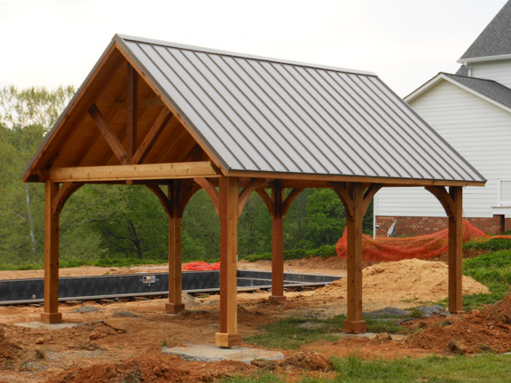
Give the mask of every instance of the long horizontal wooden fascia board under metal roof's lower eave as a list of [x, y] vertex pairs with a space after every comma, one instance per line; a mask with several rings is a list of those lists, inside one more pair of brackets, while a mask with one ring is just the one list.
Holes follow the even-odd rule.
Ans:
[[[314, 175], [314, 174], [295, 174], [295, 173], [270, 173], [270, 172], [255, 172], [255, 171], [240, 171], [232, 170], [228, 176], [237, 177], [251, 177], [251, 178], [268, 178], [280, 179], [287, 181], [297, 181], [301, 185], [315, 182], [349, 182], [349, 183], [363, 183], [363, 184], [387, 184], [393, 186], [484, 186], [486, 181], [458, 181], [458, 180], [434, 180], [434, 179], [413, 179], [413, 178], [392, 178], [392, 177], [377, 177], [377, 176], [329, 176], [329, 175]], [[307, 187], [307, 186], [303, 186]]]

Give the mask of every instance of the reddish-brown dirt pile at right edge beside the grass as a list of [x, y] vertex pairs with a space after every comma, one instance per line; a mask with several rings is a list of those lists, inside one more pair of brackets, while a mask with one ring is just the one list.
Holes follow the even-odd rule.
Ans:
[[477, 353], [511, 349], [511, 295], [483, 311], [453, 316], [432, 323], [414, 334], [406, 344], [411, 348], [451, 350], [456, 353]]

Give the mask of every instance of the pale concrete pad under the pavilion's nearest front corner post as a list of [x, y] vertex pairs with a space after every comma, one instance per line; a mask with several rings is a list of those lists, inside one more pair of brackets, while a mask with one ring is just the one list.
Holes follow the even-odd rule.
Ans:
[[188, 345], [176, 348], [162, 348], [161, 352], [163, 354], [177, 355], [186, 360], [200, 362], [220, 362], [223, 360], [232, 360], [243, 363], [251, 363], [254, 359], [284, 359], [284, 354], [279, 351], [245, 347], [218, 348], [212, 343]]

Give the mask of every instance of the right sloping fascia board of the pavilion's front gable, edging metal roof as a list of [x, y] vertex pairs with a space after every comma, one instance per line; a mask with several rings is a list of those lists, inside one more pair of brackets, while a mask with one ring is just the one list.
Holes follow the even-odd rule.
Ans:
[[227, 176], [227, 170], [225, 169], [225, 167], [221, 163], [221, 161], [218, 159], [218, 156], [216, 155], [216, 153], [212, 152], [211, 148], [208, 147], [208, 145], [206, 145], [204, 143], [204, 140], [199, 137], [199, 135], [197, 134], [195, 129], [192, 129], [192, 127], [190, 126], [188, 121], [186, 121], [185, 117], [183, 115], [181, 115], [181, 113], [179, 113], [177, 111], [176, 106], [174, 106], [174, 104], [172, 102], [170, 102], [170, 98], [163, 94], [163, 92], [158, 87], [158, 85], [153, 80], [153, 78], [151, 78], [151, 76], [149, 74], [145, 73], [145, 68], [141, 67], [140, 63], [130, 55], [128, 47], [122, 43], [122, 40], [120, 38], [115, 40], [114, 46], [121, 52], [124, 59], [128, 60], [130, 65], [135, 68], [135, 70], [138, 72], [138, 75], [144, 79], [144, 81], [149, 85], [151, 90], [153, 90], [154, 94], [156, 94], [161, 99], [163, 104], [169, 108], [169, 111], [174, 116], [176, 116], [177, 120], [181, 123], [181, 125], [183, 125], [183, 127], [186, 129], [186, 131], [193, 137], [195, 142], [197, 144], [199, 144], [200, 147], [202, 148], [202, 150], [208, 154], [209, 160], [211, 160], [211, 161], [213, 161], [213, 163], [215, 163], [216, 168], [219, 168], [222, 171], [222, 174], [224, 176]]

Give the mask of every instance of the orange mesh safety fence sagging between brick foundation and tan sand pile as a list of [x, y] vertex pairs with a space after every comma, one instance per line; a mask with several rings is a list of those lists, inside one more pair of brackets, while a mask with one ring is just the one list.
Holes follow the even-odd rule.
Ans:
[[[344, 229], [335, 250], [345, 259], [347, 257], [348, 236]], [[470, 239], [509, 238], [511, 236], [490, 237], [476, 228], [476, 226], [463, 221], [463, 242]], [[436, 231], [412, 238], [373, 237], [362, 235], [362, 259], [364, 261], [401, 261], [404, 259], [424, 259], [436, 257], [449, 249], [449, 230]]]

